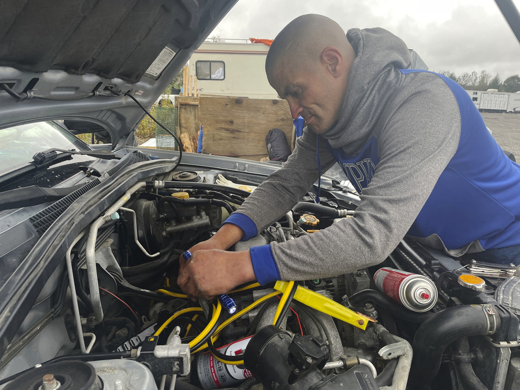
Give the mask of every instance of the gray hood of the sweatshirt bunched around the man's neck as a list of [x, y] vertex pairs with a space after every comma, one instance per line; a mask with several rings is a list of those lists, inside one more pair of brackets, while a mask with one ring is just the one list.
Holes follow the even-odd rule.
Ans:
[[[374, 123], [378, 107], [388, 97], [370, 92], [379, 88], [382, 80], [388, 81], [388, 73], [410, 68], [412, 58], [406, 44], [385, 29], [350, 29], [347, 39], [356, 59], [350, 68], [340, 119], [323, 137], [333, 148], [344, 147], [350, 154], [365, 144], [372, 127], [367, 124]], [[355, 131], [346, 132], [347, 127]]]

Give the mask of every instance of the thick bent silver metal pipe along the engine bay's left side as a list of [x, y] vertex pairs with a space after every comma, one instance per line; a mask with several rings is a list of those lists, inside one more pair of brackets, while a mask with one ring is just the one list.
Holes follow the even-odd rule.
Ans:
[[87, 276], [88, 276], [88, 287], [90, 293], [90, 301], [92, 303], [92, 309], [94, 310], [94, 318], [92, 319], [92, 324], [97, 325], [103, 320], [103, 307], [101, 306], [101, 297], [99, 294], [99, 283], [97, 280], [97, 270], [96, 270], [96, 239], [97, 232], [99, 228], [105, 224], [108, 220], [112, 219], [112, 214], [118, 211], [123, 204], [128, 202], [131, 198], [132, 194], [141, 188], [145, 188], [146, 183], [141, 181], [130, 187], [124, 195], [116, 201], [112, 206], [108, 208], [108, 210], [101, 217], [96, 219], [92, 225], [90, 225], [90, 229], [88, 232], [87, 243], [85, 246], [85, 257], [86, 257], [86, 265], [87, 265]]

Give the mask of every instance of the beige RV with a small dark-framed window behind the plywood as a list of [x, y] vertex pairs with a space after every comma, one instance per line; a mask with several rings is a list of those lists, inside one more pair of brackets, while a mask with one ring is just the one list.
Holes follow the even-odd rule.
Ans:
[[265, 75], [268, 50], [267, 45], [246, 40], [205, 41], [190, 58], [189, 75], [197, 77], [201, 95], [276, 99]]

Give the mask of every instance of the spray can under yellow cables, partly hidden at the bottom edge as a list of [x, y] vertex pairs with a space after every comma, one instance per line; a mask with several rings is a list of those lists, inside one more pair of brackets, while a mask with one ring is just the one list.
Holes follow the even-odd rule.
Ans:
[[[218, 348], [219, 352], [235, 356], [242, 354], [251, 337], [236, 341], [235, 343]], [[197, 374], [199, 382], [204, 390], [222, 387], [236, 387], [243, 381], [253, 378], [251, 371], [243, 366], [227, 365], [217, 359], [211, 353], [205, 353], [197, 361]]]

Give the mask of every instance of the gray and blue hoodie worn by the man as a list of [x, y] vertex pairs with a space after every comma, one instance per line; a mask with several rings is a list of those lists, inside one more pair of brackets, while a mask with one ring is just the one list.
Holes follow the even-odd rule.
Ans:
[[306, 128], [283, 167], [226, 223], [244, 239], [256, 236], [315, 183], [317, 160], [322, 172], [338, 161], [361, 202], [353, 218], [327, 229], [251, 248], [257, 280], [352, 272], [384, 261], [405, 235], [454, 256], [520, 244], [520, 166], [465, 90], [408, 69], [407, 46], [386, 30], [352, 29], [347, 38], [357, 57], [339, 121], [319, 137]]

